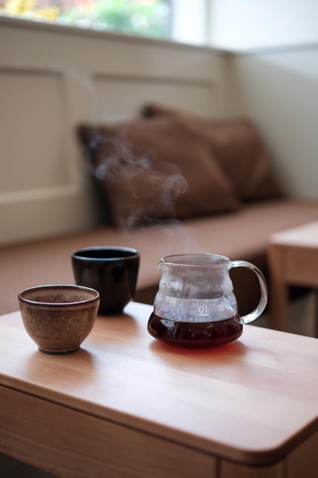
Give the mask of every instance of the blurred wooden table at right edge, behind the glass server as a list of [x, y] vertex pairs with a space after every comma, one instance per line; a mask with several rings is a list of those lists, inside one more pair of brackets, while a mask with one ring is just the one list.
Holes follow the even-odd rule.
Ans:
[[287, 330], [288, 286], [318, 287], [318, 221], [269, 239], [271, 328]]

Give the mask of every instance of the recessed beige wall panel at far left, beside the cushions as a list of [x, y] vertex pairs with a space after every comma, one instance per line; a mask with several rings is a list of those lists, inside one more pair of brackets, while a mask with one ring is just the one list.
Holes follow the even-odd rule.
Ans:
[[61, 75], [0, 69], [0, 196], [67, 184]]

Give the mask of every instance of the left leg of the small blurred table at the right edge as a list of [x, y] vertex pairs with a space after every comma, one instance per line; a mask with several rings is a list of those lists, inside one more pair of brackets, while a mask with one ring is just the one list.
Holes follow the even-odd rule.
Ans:
[[284, 281], [284, 251], [280, 247], [269, 246], [270, 267], [270, 328], [287, 331], [288, 291]]

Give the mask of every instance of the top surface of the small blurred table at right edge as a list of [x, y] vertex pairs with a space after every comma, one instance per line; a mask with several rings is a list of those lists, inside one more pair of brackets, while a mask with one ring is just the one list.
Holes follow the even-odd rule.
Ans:
[[272, 234], [269, 242], [287, 247], [318, 249], [318, 221]]

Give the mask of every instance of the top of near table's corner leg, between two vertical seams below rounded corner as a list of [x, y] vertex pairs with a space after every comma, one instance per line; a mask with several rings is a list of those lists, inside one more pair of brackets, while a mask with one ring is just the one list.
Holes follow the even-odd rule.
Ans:
[[284, 463], [279, 462], [270, 467], [255, 468], [222, 460], [218, 478], [285, 478]]

